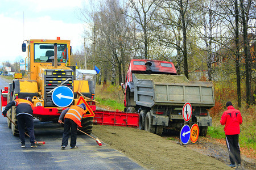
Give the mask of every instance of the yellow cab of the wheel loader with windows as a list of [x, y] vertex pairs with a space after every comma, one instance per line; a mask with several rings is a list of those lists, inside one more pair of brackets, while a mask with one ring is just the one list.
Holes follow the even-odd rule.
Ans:
[[22, 44], [22, 52], [27, 52], [25, 58], [27, 79], [39, 81], [39, 67], [54, 69], [51, 68], [52, 59], [50, 58], [55, 56], [55, 51], [57, 66], [60, 69], [70, 65], [72, 47], [69, 40], [60, 40], [57, 37], [57, 40], [26, 40], [26, 42]]

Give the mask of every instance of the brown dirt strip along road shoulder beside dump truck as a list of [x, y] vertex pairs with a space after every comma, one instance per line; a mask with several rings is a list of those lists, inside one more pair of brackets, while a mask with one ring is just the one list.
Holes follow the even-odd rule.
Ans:
[[[179, 137], [173, 134], [160, 137], [144, 130], [106, 125], [93, 125], [93, 134], [146, 169], [230, 169], [225, 145], [203, 138], [181, 146], [175, 139]], [[255, 169], [255, 159], [242, 159], [243, 169]]]

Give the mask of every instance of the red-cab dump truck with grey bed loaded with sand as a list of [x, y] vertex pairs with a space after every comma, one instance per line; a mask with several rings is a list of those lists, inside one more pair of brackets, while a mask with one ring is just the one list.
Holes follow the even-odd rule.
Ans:
[[[177, 75], [172, 62], [131, 59], [126, 83], [125, 112], [139, 113], [139, 129], [162, 135], [164, 129], [180, 129], [184, 125], [183, 105], [192, 105], [192, 118], [200, 135], [212, 126], [209, 109], [214, 106], [212, 82], [193, 82]], [[188, 122], [188, 123], [189, 123]]]

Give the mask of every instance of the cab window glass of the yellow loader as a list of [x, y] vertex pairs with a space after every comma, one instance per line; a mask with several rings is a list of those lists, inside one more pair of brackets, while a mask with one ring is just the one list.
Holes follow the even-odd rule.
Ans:
[[[54, 56], [54, 44], [34, 44], [34, 61], [51, 62]], [[67, 44], [57, 44], [57, 62], [66, 62]]]

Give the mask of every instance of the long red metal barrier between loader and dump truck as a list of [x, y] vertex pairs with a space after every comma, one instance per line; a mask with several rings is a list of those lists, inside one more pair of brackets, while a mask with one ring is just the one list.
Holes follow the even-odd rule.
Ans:
[[138, 128], [139, 114], [118, 111], [94, 111], [94, 124], [110, 126], [127, 126]]

